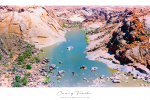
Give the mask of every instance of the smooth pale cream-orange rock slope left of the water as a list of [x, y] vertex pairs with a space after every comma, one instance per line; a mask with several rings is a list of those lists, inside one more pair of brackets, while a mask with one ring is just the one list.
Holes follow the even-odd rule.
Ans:
[[55, 20], [53, 12], [46, 9], [40, 6], [2, 6], [0, 33], [23, 35], [27, 42], [38, 48], [64, 41], [65, 31]]

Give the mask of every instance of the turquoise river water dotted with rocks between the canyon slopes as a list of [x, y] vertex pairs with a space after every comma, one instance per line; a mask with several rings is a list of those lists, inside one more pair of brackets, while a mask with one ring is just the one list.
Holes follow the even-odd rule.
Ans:
[[[110, 77], [112, 75], [110, 68], [104, 63], [91, 61], [86, 58], [86, 53], [83, 53], [87, 46], [84, 31], [71, 31], [66, 33], [65, 37], [66, 42], [43, 48], [45, 53], [41, 55], [49, 58], [50, 64], [57, 65], [57, 69], [53, 71], [55, 74], [51, 73], [50, 77], [50, 81], [54, 87], [86, 87], [93, 84], [91, 80], [96, 79], [95, 74], [97, 74], [97, 77], [101, 75]], [[68, 46], [73, 46], [73, 49], [67, 50]], [[61, 61], [62, 64], [59, 64], [59, 61]], [[80, 66], [82, 65], [85, 65], [87, 69], [80, 70]], [[90, 72], [91, 67], [98, 67], [98, 70], [96, 72]], [[60, 70], [64, 70], [66, 73], [64, 73], [64, 77], [59, 79], [60, 83], [58, 83], [56, 75]], [[77, 76], [73, 76], [72, 72], [75, 72]], [[89, 82], [84, 81], [83, 78], [86, 78]], [[110, 86], [113, 84], [107, 83], [105, 85]]]

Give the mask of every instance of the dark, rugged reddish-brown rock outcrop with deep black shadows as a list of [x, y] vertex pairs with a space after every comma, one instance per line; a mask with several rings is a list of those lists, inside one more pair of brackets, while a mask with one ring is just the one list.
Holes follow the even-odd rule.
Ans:
[[114, 52], [121, 63], [138, 62], [149, 68], [149, 36], [138, 17], [125, 18], [120, 28], [113, 32], [108, 42], [109, 51]]

